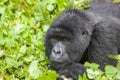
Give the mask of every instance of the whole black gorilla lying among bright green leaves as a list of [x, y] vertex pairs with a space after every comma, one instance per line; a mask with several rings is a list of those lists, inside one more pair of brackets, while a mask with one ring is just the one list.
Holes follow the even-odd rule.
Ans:
[[86, 61], [100, 64], [102, 70], [105, 65], [116, 65], [108, 55], [120, 53], [120, 8], [112, 5], [115, 3], [97, 4], [100, 7], [86, 11], [68, 9], [51, 24], [45, 37], [50, 69], [77, 80], [86, 70], [82, 65]]

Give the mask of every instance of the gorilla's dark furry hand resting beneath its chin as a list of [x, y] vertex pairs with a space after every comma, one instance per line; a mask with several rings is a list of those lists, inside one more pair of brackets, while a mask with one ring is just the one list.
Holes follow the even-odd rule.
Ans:
[[60, 74], [58, 80], [78, 80], [79, 75], [83, 75], [86, 71], [86, 67], [79, 63], [74, 63], [67, 68], [62, 68], [58, 71]]

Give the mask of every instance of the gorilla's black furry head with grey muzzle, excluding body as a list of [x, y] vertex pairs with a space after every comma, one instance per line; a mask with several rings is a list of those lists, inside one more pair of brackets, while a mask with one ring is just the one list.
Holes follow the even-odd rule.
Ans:
[[89, 45], [92, 30], [85, 13], [74, 9], [63, 12], [46, 33], [45, 49], [51, 63], [79, 62]]

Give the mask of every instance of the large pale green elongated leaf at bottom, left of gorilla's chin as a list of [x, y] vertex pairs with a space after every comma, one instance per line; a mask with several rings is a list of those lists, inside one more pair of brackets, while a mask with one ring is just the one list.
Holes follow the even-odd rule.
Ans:
[[29, 67], [29, 74], [34, 78], [34, 79], [37, 79], [40, 75], [40, 70], [38, 68], [38, 62], [37, 61], [33, 61], [31, 64], [30, 64], [30, 67]]

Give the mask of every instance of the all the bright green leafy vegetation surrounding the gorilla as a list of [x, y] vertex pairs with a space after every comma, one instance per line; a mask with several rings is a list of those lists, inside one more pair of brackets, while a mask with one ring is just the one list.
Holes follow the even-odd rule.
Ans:
[[[0, 0], [0, 80], [55, 80], [58, 74], [48, 70], [45, 56], [45, 32], [63, 10], [89, 8], [84, 3], [88, 1]], [[107, 66], [105, 72], [96, 64], [85, 65], [91, 68], [87, 70], [91, 79], [120, 79], [120, 64], [117, 68]], [[86, 74], [79, 79], [88, 80]]]

